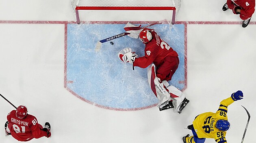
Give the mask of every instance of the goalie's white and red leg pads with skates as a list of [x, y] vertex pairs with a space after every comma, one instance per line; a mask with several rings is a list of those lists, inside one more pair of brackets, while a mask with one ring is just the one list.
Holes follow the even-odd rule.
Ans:
[[154, 64], [148, 68], [148, 83], [159, 100], [158, 108], [160, 111], [173, 108], [174, 112], [181, 114], [184, 107], [189, 103], [189, 100], [178, 88], [169, 86], [165, 80], [163, 82], [158, 81]]

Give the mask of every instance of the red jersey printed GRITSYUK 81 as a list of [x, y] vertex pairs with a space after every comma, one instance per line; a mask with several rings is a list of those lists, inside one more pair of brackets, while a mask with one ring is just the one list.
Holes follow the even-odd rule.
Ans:
[[47, 132], [41, 130], [43, 126], [37, 123], [35, 116], [28, 114], [24, 119], [20, 119], [15, 114], [16, 110], [13, 110], [7, 115], [8, 128], [15, 139], [29, 141], [33, 138], [47, 136]]

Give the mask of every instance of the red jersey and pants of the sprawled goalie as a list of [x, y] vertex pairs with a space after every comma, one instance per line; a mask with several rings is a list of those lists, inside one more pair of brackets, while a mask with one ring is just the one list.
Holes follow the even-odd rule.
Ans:
[[[146, 68], [152, 63], [156, 65], [156, 76], [161, 80], [171, 80], [174, 72], [178, 68], [178, 53], [163, 41], [154, 31], [154, 29], [143, 29], [150, 31], [152, 39], [145, 44], [145, 56], [136, 58], [133, 66]], [[150, 36], [151, 38], [151, 36]]]

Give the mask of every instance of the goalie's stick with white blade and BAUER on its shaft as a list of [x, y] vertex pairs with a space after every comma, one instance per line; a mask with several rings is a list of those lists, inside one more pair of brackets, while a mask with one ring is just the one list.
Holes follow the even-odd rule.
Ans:
[[[153, 26], [153, 25], [156, 25], [156, 24], [163, 23], [164, 21], [167, 21], [167, 20], [165, 19], [165, 20], [162, 20], [162, 21], [158, 21], [158, 22], [156, 22], [156, 23], [152, 23], [152, 24], [147, 25], [147, 26], [144, 26], [144, 27], [137, 27], [136, 29], [138, 29], [138, 28], [139, 28], [139, 29], [144, 29], [144, 28], [146, 28], [146, 27], [150, 27], [150, 26]], [[115, 36], [111, 36], [111, 37], [108, 37], [108, 38], [106, 38], [106, 39], [102, 39], [102, 40], [98, 41], [97, 44], [96, 44], [96, 47], [95, 47], [95, 51], [96, 51], [96, 52], [100, 51], [100, 48], [101, 48], [101, 46], [102, 46], [102, 43], [107, 42], [107, 41], [110, 41], [110, 40], [114, 40], [114, 39], [119, 38], [119, 37], [126, 36], [126, 35], [128, 35], [128, 34], [130, 34], [130, 33], [124, 32], [124, 33], [117, 34], [117, 35], [115, 35]]]

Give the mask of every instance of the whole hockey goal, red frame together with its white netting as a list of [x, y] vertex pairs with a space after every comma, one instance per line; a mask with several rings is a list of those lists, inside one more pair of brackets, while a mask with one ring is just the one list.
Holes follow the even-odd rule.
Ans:
[[173, 11], [171, 23], [175, 23], [176, 3], [180, 0], [71, 0], [76, 13], [76, 23], [80, 23], [78, 11]]

